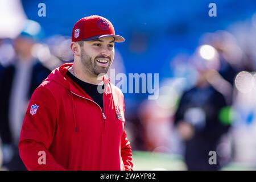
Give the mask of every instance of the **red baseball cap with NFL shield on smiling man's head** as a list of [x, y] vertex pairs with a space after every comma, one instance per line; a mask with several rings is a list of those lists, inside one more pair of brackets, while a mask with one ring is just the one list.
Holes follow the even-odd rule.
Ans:
[[112, 36], [115, 42], [125, 41], [122, 36], [115, 35], [113, 24], [102, 16], [86, 16], [78, 20], [72, 30], [72, 42], [94, 40], [106, 36]]

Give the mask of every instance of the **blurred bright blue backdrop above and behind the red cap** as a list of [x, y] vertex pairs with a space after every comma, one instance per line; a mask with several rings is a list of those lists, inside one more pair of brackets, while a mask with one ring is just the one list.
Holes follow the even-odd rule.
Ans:
[[[46, 4], [46, 17], [38, 16], [38, 4]], [[209, 17], [209, 3], [217, 5], [217, 17]], [[159, 73], [160, 81], [172, 76], [170, 61], [181, 49], [191, 53], [204, 32], [223, 30], [255, 13], [253, 0], [181, 1], [28, 1], [23, 0], [28, 19], [39, 22], [46, 36], [71, 35], [80, 18], [96, 14], [112, 21], [126, 38], [118, 44], [126, 73]], [[146, 94], [126, 94], [145, 98]]]

